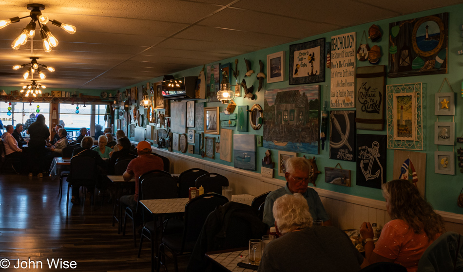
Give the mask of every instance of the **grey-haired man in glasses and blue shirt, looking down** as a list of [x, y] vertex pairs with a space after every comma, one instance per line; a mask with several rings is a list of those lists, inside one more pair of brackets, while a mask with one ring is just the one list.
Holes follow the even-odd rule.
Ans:
[[286, 160], [286, 186], [272, 191], [265, 199], [264, 206], [264, 223], [273, 227], [275, 218], [273, 218], [273, 202], [284, 195], [292, 195], [295, 193], [301, 194], [309, 204], [310, 214], [313, 220], [322, 220], [324, 226], [331, 225], [331, 220], [323, 207], [322, 201], [318, 196], [317, 191], [308, 188], [309, 185], [310, 165], [307, 159], [293, 157]]

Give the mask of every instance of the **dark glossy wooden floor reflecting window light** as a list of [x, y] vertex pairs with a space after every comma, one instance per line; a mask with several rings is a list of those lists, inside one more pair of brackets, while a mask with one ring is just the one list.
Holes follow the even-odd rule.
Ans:
[[[131, 225], [122, 236], [117, 234], [117, 224], [111, 224], [111, 203], [69, 203], [66, 213], [66, 193], [60, 199], [58, 187], [59, 181], [48, 177], [0, 174], [0, 266], [7, 258], [10, 267], [6, 271], [13, 271], [18, 258], [28, 261], [30, 257], [42, 262], [40, 271], [57, 271], [49, 269], [47, 259], [61, 258], [77, 262], [77, 268], [69, 271], [151, 271], [149, 241], [137, 258]], [[180, 271], [188, 260], [189, 256], [179, 258]], [[32, 268], [31, 264], [31, 269], [22, 271], [38, 271]], [[173, 264], [168, 264], [168, 269], [174, 271]]]

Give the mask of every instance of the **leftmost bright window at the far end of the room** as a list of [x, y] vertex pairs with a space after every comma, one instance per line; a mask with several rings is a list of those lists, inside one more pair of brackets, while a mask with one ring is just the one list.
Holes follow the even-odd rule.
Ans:
[[[35, 116], [43, 114], [45, 124], [47, 126], [49, 124], [50, 104], [48, 103], [11, 102], [11, 115], [8, 115], [8, 107], [8, 103], [0, 103], [0, 119], [4, 126], [13, 125], [16, 127], [16, 124], [25, 124], [31, 114]], [[37, 112], [37, 109], [39, 109], [39, 112]]]

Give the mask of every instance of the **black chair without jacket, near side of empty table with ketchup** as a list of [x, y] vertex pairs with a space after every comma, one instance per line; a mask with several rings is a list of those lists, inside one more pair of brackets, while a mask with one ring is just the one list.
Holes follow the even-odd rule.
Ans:
[[165, 266], [165, 257], [170, 258], [165, 253], [167, 249], [173, 255], [175, 272], [178, 272], [177, 256], [190, 254], [193, 251], [196, 240], [201, 233], [201, 229], [209, 214], [216, 207], [228, 202], [222, 195], [209, 193], [200, 195], [190, 200], [185, 205], [185, 224], [183, 232], [164, 235], [162, 243], [159, 245], [158, 270], [160, 268], [161, 257]]

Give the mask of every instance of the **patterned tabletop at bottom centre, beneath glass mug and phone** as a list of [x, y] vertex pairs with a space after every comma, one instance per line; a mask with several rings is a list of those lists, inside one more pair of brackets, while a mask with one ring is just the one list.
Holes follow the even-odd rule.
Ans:
[[238, 266], [239, 262], [247, 263], [248, 254], [248, 248], [240, 248], [207, 252], [206, 257], [211, 259], [213, 263], [230, 272], [254, 272], [255, 270]]

